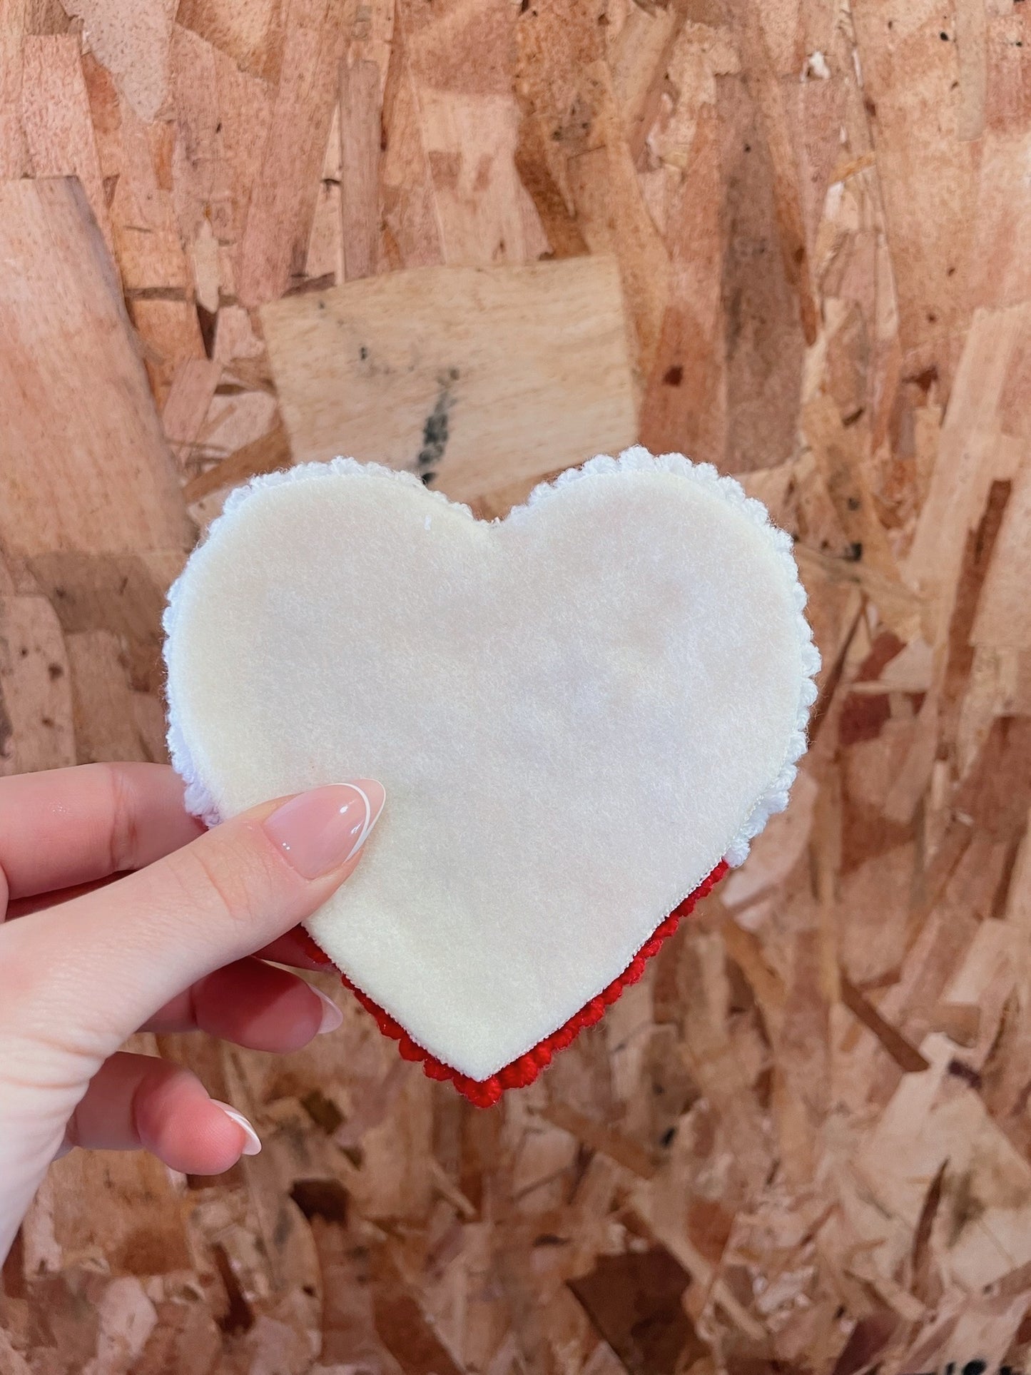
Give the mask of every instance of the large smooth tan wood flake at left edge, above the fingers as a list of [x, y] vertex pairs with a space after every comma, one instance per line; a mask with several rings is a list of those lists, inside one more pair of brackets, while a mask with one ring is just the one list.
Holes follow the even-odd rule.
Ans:
[[0, 264], [4, 546], [23, 557], [188, 547], [114, 264], [77, 179], [0, 183]]

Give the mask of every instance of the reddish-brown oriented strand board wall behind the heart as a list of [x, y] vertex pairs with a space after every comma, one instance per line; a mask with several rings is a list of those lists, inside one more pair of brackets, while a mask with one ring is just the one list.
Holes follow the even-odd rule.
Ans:
[[531, 1090], [342, 994], [151, 1042], [265, 1148], [60, 1162], [4, 1375], [1031, 1365], [1030, 8], [0, 0], [4, 770], [164, 758], [170, 578], [326, 444], [481, 514], [711, 459], [825, 657], [790, 810]]

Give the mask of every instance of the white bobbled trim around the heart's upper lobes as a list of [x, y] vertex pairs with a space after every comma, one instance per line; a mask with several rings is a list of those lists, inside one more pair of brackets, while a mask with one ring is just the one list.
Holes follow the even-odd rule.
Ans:
[[[691, 461], [685, 458], [683, 454], [652, 455], [641, 444], [635, 444], [632, 448], [624, 450], [619, 458], [610, 458], [608, 454], [599, 454], [597, 458], [590, 459], [580, 468], [566, 469], [551, 483], [540, 483], [526, 498], [525, 506], [513, 507], [505, 518], [507, 521], [524, 520], [526, 513], [539, 502], [544, 500], [548, 494], [558, 491], [561, 487], [568, 487], [569, 483], [579, 481], [581, 477], [639, 472], [675, 473], [678, 477], [686, 477], [708, 491], [711, 495], [719, 496], [729, 505], [735, 506], [741, 514], [753, 521], [770, 540], [770, 544], [775, 550], [784, 575], [788, 580], [792, 600], [795, 601], [795, 628], [799, 637], [799, 653], [803, 668], [795, 730], [788, 740], [788, 749], [779, 773], [759, 798], [748, 820], [727, 847], [724, 855], [726, 862], [731, 868], [738, 868], [748, 857], [751, 842], [755, 840], [759, 832], [766, 826], [770, 817], [774, 815], [774, 813], [784, 811], [788, 806], [788, 795], [799, 773], [796, 767], [797, 762], [806, 754], [806, 729], [808, 726], [810, 707], [817, 700], [817, 685], [814, 679], [819, 672], [821, 659], [817, 646], [812, 644], [812, 631], [810, 624], [803, 615], [807, 600], [806, 588], [801, 586], [799, 579], [799, 569], [792, 554], [793, 542], [790, 535], [788, 535], [786, 531], [778, 529], [778, 527], [773, 524], [770, 513], [760, 500], [749, 496], [741, 484], [734, 481], [733, 477], [722, 477], [712, 463], [691, 463]], [[257, 477], [252, 477], [249, 483], [230, 492], [225, 499], [225, 505], [223, 506], [221, 516], [212, 521], [205, 540], [210, 539], [219, 525], [232, 516], [234, 512], [239, 510], [243, 502], [253, 496], [254, 492], [258, 492], [265, 487], [278, 487], [282, 483], [337, 477], [345, 473], [351, 476], [362, 474], [392, 477], [395, 481], [407, 483], [410, 487], [418, 487], [430, 499], [443, 502], [445, 506], [456, 507], [458, 510], [465, 512], [470, 520], [476, 520], [467, 506], [462, 502], [452, 502], [443, 492], [425, 487], [414, 473], [406, 473], [393, 468], [384, 468], [381, 463], [359, 463], [357, 459], [353, 458], [334, 458], [330, 459], [329, 463], [298, 463], [297, 468], [287, 468], [280, 472], [263, 473]], [[495, 521], [492, 524], [498, 522]], [[165, 630], [164, 657], [166, 671], [170, 670], [169, 646], [179, 622], [180, 594], [184, 576], [186, 569], [169, 588], [168, 605], [162, 617], [162, 626]], [[176, 711], [175, 694], [172, 692], [170, 671], [168, 672], [166, 679], [166, 696], [168, 749], [172, 756], [172, 767], [186, 782], [186, 808], [195, 817], [201, 817], [206, 825], [217, 825], [221, 817], [219, 815], [214, 798], [208, 789], [208, 785], [199, 777], [190, 747], [187, 745], [179, 725], [179, 712]]]

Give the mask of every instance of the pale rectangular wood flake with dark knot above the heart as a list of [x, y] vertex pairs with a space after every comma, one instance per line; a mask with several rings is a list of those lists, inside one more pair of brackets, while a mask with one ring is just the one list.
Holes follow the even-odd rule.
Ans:
[[635, 437], [608, 257], [395, 272], [261, 319], [298, 462], [346, 454], [470, 500]]

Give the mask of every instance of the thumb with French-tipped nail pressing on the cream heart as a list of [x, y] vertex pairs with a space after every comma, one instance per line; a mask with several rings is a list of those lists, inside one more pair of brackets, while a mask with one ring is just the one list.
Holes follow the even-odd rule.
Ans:
[[25, 997], [14, 991], [22, 1006], [4, 1020], [14, 1016], [23, 1035], [37, 1020], [51, 1033], [63, 1026], [87, 1053], [110, 1055], [176, 994], [320, 908], [356, 868], [384, 796], [359, 778], [264, 803], [115, 884], [14, 923], [22, 949], [5, 952], [5, 984]]

